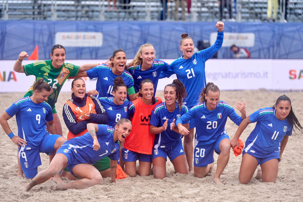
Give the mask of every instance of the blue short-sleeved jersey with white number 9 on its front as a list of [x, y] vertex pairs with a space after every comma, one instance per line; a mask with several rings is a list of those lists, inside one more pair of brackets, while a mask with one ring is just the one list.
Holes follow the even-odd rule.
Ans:
[[53, 120], [50, 105], [46, 102], [36, 104], [28, 96], [14, 102], [5, 111], [10, 117], [16, 115], [18, 135], [27, 141], [27, 147], [38, 147], [48, 134], [46, 122]]

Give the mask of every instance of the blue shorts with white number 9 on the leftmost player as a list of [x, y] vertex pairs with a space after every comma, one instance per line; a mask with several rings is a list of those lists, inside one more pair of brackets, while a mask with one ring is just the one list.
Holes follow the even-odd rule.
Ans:
[[26, 178], [31, 179], [37, 175], [38, 166], [41, 165], [39, 153], [51, 155], [55, 151], [56, 140], [62, 137], [61, 135], [46, 134], [39, 147], [32, 148], [30, 145], [19, 148], [19, 159], [22, 171]]

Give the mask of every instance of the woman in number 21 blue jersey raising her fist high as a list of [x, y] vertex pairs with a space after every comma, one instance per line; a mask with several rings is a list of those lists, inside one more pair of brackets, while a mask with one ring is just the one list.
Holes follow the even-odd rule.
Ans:
[[[218, 35], [215, 44], [209, 48], [194, 53], [194, 42], [188, 34], [181, 35], [180, 50], [183, 56], [173, 61], [167, 71], [163, 71], [160, 78], [170, 77], [176, 74], [182, 81], [187, 91], [184, 104], [191, 108], [198, 102], [201, 90], [206, 86], [205, 62], [221, 48], [223, 43], [223, 22], [217, 22]], [[184, 139], [184, 151], [188, 163], [189, 172], [193, 172], [193, 145], [195, 121], [189, 123], [189, 134]]]

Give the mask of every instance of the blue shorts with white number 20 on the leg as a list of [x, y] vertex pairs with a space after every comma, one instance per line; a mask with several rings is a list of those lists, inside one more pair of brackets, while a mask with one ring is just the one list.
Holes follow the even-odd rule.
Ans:
[[205, 167], [208, 164], [213, 163], [215, 160], [214, 156], [212, 155], [212, 151], [215, 150], [217, 154], [220, 154], [221, 151], [219, 149], [219, 144], [221, 140], [225, 138], [229, 140], [228, 135], [224, 131], [217, 139], [208, 141], [197, 141], [197, 139], [195, 139], [194, 166]]

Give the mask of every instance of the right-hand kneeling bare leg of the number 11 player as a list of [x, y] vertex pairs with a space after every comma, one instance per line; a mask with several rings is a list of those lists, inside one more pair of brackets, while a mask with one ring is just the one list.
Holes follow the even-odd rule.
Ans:
[[278, 159], [271, 159], [261, 164], [262, 181], [276, 183], [278, 176]]

